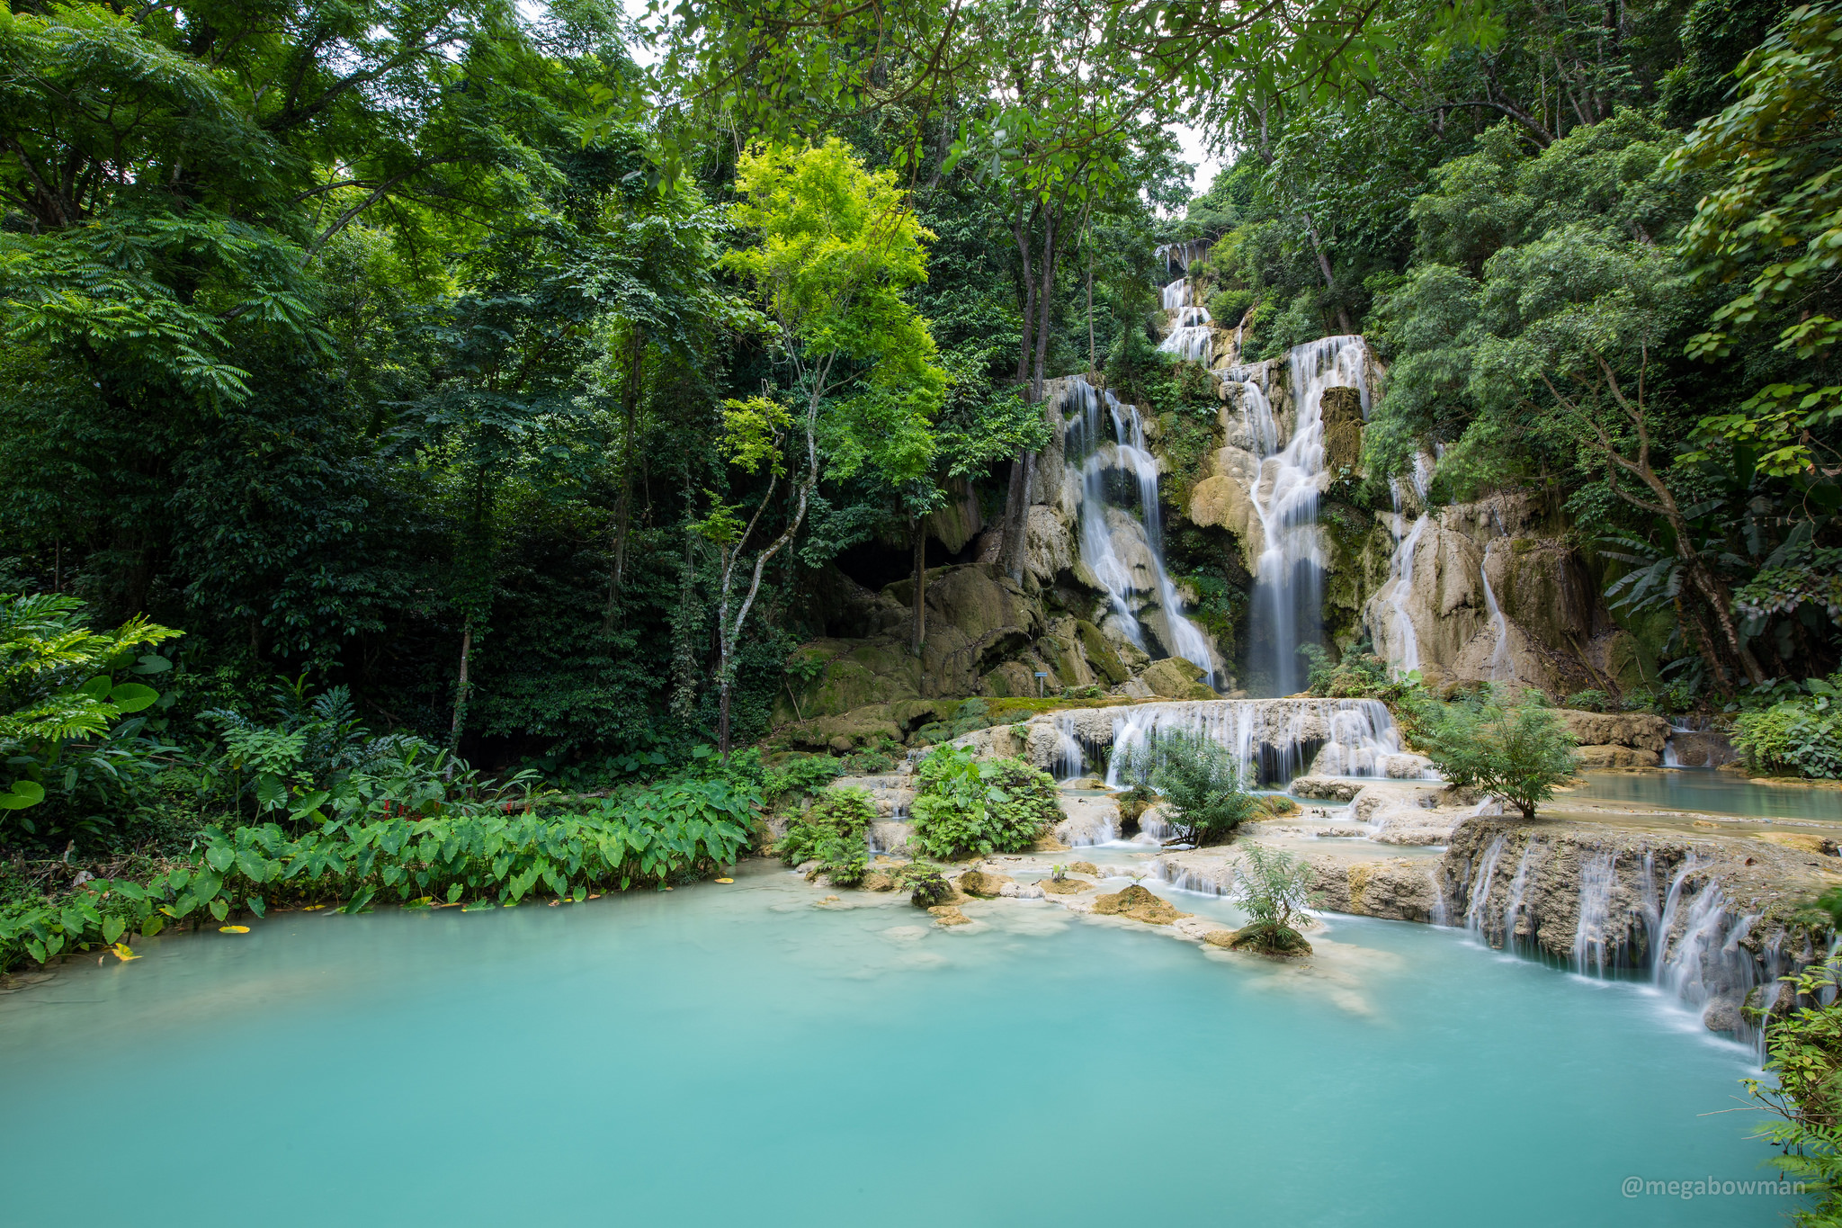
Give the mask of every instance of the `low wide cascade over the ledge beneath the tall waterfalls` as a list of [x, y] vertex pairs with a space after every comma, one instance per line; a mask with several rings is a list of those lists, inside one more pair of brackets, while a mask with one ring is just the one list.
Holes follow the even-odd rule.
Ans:
[[1201, 733], [1234, 751], [1249, 784], [1282, 786], [1306, 771], [1341, 777], [1418, 777], [1387, 705], [1376, 700], [1194, 700], [1055, 714], [1055, 775], [1087, 775], [1107, 760], [1120, 784], [1120, 753], [1157, 733]]

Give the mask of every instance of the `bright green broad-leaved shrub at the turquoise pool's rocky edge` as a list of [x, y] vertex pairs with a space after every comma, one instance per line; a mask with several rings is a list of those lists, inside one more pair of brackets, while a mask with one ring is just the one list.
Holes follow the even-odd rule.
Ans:
[[917, 775], [914, 828], [928, 856], [1022, 852], [1061, 817], [1055, 781], [1020, 759], [943, 746]]

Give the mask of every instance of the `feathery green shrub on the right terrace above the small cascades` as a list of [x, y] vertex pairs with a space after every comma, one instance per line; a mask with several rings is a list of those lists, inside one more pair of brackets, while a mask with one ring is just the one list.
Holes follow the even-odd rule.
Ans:
[[1470, 700], [1442, 703], [1422, 722], [1420, 746], [1448, 782], [1483, 788], [1534, 817], [1555, 786], [1573, 779], [1575, 738], [1538, 692], [1514, 703], [1488, 687]]

